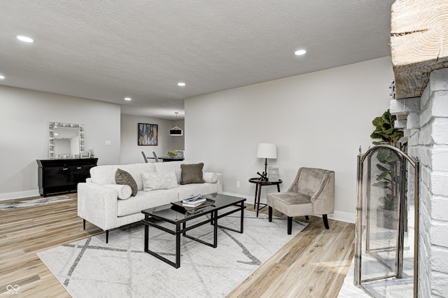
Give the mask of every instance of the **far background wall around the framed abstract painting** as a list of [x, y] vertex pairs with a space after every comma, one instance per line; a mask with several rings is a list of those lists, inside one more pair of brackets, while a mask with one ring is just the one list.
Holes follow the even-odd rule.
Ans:
[[[158, 125], [158, 146], [138, 145], [137, 129], [139, 123]], [[141, 151], [145, 152], [146, 157], [153, 157], [153, 151], [158, 156], [166, 156], [168, 151], [183, 149], [184, 136], [169, 135], [169, 129], [172, 129], [174, 125], [174, 121], [172, 120], [136, 115], [121, 115], [121, 164], [144, 162]], [[177, 125], [183, 128], [183, 121], [178, 120]]]

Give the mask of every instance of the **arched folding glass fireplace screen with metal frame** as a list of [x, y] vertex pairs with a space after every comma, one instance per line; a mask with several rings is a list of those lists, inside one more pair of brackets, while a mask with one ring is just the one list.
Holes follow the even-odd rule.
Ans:
[[354, 283], [373, 297], [416, 297], [419, 161], [392, 146], [358, 155]]

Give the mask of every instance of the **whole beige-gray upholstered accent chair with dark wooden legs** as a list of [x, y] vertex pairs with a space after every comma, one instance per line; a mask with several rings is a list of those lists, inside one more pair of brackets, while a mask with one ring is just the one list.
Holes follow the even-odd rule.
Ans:
[[267, 194], [267, 206], [269, 222], [272, 208], [288, 216], [288, 234], [295, 216], [322, 215], [325, 229], [330, 229], [327, 214], [335, 212], [335, 172], [300, 168], [287, 192]]

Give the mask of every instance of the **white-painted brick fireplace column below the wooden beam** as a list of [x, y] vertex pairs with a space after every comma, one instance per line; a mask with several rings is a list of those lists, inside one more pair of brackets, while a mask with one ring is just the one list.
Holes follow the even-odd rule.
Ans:
[[421, 97], [391, 101], [407, 115], [408, 155], [420, 160], [419, 297], [448, 297], [448, 69], [430, 73]]

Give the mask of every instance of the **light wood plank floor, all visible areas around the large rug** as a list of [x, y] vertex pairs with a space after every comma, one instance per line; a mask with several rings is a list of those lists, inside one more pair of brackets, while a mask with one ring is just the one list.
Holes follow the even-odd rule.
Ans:
[[[73, 200], [0, 211], [0, 297], [70, 297], [36, 253], [103, 231], [90, 222], [84, 230], [76, 215], [76, 194], [67, 195]], [[267, 213], [267, 208], [260, 212]], [[308, 222], [308, 227], [228, 297], [337, 297], [353, 259], [354, 225], [329, 220], [326, 230], [321, 218], [297, 220]], [[20, 290], [8, 285], [18, 285]]]

